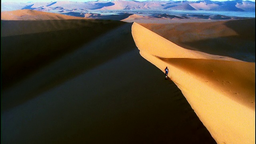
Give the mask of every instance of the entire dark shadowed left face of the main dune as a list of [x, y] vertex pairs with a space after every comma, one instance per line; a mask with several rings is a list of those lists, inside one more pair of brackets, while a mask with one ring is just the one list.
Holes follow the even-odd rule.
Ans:
[[2, 23], [2, 143], [216, 144], [178, 87], [140, 56], [132, 23]]

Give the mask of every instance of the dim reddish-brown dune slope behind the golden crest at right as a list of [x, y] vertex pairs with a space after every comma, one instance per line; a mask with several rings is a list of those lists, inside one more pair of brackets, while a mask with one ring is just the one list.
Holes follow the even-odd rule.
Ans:
[[255, 62], [255, 19], [141, 25], [183, 48]]

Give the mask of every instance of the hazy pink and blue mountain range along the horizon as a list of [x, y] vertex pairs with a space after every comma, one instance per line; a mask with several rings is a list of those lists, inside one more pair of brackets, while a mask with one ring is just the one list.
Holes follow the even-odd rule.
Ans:
[[126, 0], [109, 0], [109, 1], [89, 1], [89, 2], [3, 2], [1, 11], [12, 10], [38, 10], [44, 12], [81, 12], [86, 13], [88, 10], [207, 10], [207, 11], [255, 11], [255, 2], [234, 0], [234, 1], [126, 1]]

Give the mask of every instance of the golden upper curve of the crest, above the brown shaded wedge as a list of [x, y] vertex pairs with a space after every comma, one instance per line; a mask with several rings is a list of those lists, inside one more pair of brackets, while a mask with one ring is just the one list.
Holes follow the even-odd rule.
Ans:
[[132, 24], [132, 36], [139, 50], [162, 58], [219, 59], [221, 57], [222, 60], [240, 61], [234, 58], [182, 48], [136, 22]]

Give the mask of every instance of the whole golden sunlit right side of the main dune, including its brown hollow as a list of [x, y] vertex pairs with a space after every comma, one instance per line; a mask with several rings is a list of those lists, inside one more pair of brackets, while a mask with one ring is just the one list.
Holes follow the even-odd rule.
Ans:
[[140, 55], [180, 88], [217, 143], [255, 143], [255, 63], [182, 48], [138, 23]]

